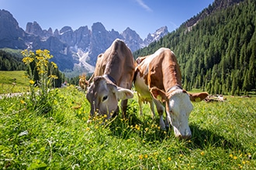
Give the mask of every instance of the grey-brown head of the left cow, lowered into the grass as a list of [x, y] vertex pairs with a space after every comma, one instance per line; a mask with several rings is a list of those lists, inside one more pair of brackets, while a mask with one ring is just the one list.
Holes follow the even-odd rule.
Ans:
[[100, 115], [106, 114], [107, 118], [118, 109], [119, 100], [132, 97], [131, 90], [117, 87], [103, 76], [96, 76], [86, 93], [86, 98], [91, 104], [91, 116], [97, 112]]

